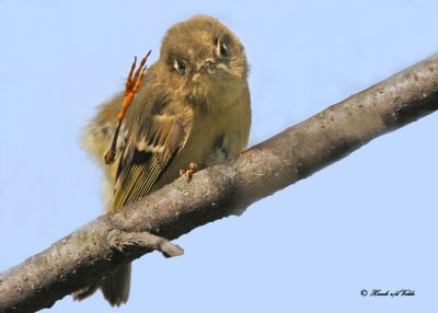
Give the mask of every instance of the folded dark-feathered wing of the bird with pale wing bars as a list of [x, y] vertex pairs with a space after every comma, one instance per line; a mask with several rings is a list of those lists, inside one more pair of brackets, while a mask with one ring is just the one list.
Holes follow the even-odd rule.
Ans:
[[140, 132], [123, 150], [114, 210], [148, 195], [187, 137], [183, 123], [174, 115], [155, 115]]

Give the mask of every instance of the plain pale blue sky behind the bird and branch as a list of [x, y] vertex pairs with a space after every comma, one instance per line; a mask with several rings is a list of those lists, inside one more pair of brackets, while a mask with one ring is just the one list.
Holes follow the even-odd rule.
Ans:
[[[79, 147], [135, 55], [204, 13], [241, 39], [258, 143], [438, 53], [438, 1], [0, 0], [0, 271], [96, 218]], [[136, 260], [130, 299], [51, 312], [437, 312], [438, 115]], [[370, 298], [360, 290], [415, 290]], [[47, 310], [48, 311], [48, 310]]]

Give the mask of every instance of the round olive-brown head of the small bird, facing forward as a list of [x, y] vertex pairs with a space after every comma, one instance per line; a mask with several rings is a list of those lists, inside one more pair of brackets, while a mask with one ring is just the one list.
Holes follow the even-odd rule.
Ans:
[[169, 88], [195, 106], [232, 103], [246, 86], [249, 67], [238, 37], [218, 20], [197, 15], [171, 27], [159, 60]]

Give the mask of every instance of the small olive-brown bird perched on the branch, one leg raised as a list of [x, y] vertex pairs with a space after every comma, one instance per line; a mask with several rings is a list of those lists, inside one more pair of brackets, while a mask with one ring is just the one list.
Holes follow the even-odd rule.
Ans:
[[[102, 104], [87, 125], [83, 147], [103, 167], [105, 212], [145, 197], [180, 176], [241, 152], [247, 143], [249, 66], [238, 37], [218, 20], [196, 15], [169, 28], [159, 60], [146, 72], [118, 134], [114, 162], [105, 154], [124, 94]], [[130, 264], [73, 293], [99, 288], [112, 305], [129, 297]]]

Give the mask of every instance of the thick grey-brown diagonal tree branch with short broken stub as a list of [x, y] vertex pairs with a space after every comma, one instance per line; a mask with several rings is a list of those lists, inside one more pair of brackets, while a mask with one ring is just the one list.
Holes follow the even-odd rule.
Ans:
[[436, 109], [438, 55], [233, 160], [200, 171], [189, 184], [177, 179], [119, 211], [100, 217], [1, 274], [0, 312], [49, 308], [118, 264], [154, 248], [178, 255], [182, 251], [177, 246], [160, 237], [172, 240], [208, 222], [240, 215], [254, 201]]

